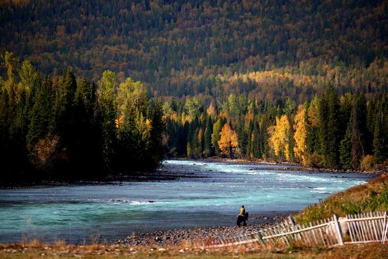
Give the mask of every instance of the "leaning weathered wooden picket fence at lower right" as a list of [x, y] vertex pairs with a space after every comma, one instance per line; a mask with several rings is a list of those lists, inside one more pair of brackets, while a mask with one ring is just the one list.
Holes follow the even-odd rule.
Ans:
[[258, 232], [232, 237], [219, 236], [219, 241], [206, 246], [218, 248], [249, 243], [277, 245], [299, 242], [311, 247], [331, 247], [347, 243], [387, 242], [387, 211], [346, 215], [338, 218], [296, 224], [292, 216]]

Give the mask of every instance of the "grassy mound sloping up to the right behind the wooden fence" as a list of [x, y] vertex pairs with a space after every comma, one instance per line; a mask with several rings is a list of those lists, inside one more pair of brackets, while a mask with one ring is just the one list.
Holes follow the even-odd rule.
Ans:
[[330, 196], [323, 204], [309, 206], [295, 215], [295, 219], [298, 223], [307, 223], [330, 218], [333, 214], [343, 217], [379, 210], [388, 210], [388, 174]]

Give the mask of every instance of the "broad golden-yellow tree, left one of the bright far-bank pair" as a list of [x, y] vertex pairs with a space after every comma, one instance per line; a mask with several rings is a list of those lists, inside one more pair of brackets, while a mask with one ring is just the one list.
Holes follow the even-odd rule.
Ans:
[[289, 141], [290, 141], [291, 124], [287, 115], [276, 117], [276, 125], [268, 128], [270, 138], [268, 143], [274, 150], [275, 155], [280, 159], [286, 156], [286, 160], [290, 160], [291, 154], [289, 154]]

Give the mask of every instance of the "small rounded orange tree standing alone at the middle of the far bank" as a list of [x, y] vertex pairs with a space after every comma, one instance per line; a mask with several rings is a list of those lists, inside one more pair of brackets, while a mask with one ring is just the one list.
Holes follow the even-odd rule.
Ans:
[[221, 155], [229, 155], [229, 158], [240, 154], [237, 133], [232, 130], [228, 123], [224, 125], [220, 132], [221, 138], [218, 140], [218, 147]]

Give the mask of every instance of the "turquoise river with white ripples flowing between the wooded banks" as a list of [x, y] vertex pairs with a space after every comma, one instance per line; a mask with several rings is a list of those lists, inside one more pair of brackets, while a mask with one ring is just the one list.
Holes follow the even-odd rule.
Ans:
[[167, 160], [163, 171], [205, 177], [0, 190], [0, 242], [89, 243], [94, 237], [111, 241], [139, 232], [233, 225], [241, 205], [250, 215], [301, 210], [370, 179], [278, 167]]

